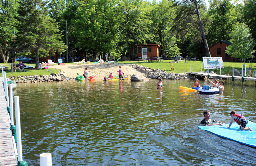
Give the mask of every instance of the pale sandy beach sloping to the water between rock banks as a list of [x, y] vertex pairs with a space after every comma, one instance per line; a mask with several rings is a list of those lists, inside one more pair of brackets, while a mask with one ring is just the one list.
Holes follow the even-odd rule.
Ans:
[[118, 75], [119, 66], [122, 66], [124, 77], [131, 77], [135, 73], [140, 73], [138, 70], [133, 69], [129, 64], [65, 64], [65, 65], [52, 65], [49, 68], [65, 70], [67, 76], [72, 78], [76, 77], [77, 73], [80, 75], [84, 74], [85, 67], [88, 67], [89, 76], [94, 75], [96, 79], [103, 79], [105, 76], [112, 74]]

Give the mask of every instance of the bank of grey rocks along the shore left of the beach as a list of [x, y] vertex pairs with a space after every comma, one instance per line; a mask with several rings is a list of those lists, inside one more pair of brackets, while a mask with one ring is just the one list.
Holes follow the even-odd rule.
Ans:
[[56, 73], [51, 73], [52, 75], [35, 75], [35, 76], [18, 76], [18, 77], [13, 77], [9, 76], [9, 78], [16, 82], [16, 83], [37, 83], [37, 82], [51, 82], [51, 81], [62, 81], [61, 75], [67, 76], [67, 73], [65, 70], [61, 70], [58, 74]]

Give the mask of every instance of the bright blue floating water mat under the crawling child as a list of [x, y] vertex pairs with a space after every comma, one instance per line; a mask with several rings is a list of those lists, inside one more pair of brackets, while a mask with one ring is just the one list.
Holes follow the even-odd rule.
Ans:
[[[244, 145], [256, 147], [256, 131], [241, 130], [237, 123], [233, 123], [230, 128], [227, 127], [228, 125], [229, 123], [224, 126], [198, 126], [198, 128]], [[256, 123], [248, 120], [246, 127], [256, 130]]]

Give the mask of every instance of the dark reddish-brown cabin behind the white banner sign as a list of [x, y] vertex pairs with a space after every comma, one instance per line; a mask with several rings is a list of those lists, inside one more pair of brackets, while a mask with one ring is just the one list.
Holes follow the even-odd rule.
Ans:
[[210, 48], [212, 57], [222, 57], [223, 62], [235, 62], [236, 58], [229, 56], [225, 49], [231, 44], [229, 41], [221, 40]]

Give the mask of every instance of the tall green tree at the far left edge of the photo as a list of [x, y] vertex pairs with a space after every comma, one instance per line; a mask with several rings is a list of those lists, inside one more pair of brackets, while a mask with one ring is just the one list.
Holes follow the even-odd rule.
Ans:
[[[14, 25], [17, 22], [17, 2], [15, 0], [0, 0], [0, 55], [3, 62], [8, 62], [9, 52], [14, 52]], [[7, 52], [7, 54], [6, 54]]]

